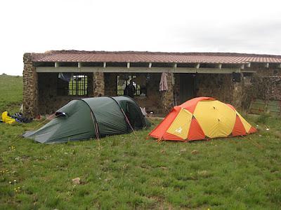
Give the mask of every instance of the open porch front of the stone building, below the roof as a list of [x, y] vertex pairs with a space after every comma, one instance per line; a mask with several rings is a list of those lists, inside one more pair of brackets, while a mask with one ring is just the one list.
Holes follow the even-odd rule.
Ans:
[[[206, 62], [50, 62], [25, 54], [24, 111], [27, 116], [54, 113], [72, 99], [123, 95], [133, 82], [133, 99], [147, 113], [165, 116], [193, 97], [215, 97], [240, 107], [249, 64]], [[159, 90], [162, 73], [166, 90]]]

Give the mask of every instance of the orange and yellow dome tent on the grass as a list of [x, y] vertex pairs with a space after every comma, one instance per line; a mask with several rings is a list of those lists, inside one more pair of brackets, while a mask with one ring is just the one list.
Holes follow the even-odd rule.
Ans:
[[161, 140], [192, 141], [253, 132], [256, 129], [230, 104], [211, 97], [197, 97], [174, 106], [149, 135]]

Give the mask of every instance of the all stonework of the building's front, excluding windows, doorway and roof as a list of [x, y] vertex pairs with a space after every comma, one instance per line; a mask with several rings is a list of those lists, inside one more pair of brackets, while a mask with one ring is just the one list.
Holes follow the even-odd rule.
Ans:
[[[58, 86], [67, 87], [68, 83], [58, 79], [58, 73], [37, 73], [32, 64], [32, 54], [24, 55], [23, 71], [23, 104], [26, 116], [53, 113], [72, 99], [81, 98], [67, 96], [60, 92]], [[194, 97], [215, 97], [222, 102], [235, 107], [248, 108], [252, 99], [281, 100], [281, 70], [275, 66], [269, 69], [261, 64], [252, 64], [257, 73], [241, 74], [241, 81], [234, 82], [232, 74], [201, 74], [195, 76]], [[86, 73], [88, 76], [88, 97], [117, 95], [117, 75], [120, 73]], [[134, 73], [147, 76], [147, 94], [145, 97], [135, 97], [141, 107], [156, 115], [165, 115], [174, 106], [174, 93], [180, 92], [181, 73], [168, 73], [169, 90], [159, 92], [161, 73]], [[173, 80], [174, 77], [174, 80]], [[38, 81], [38, 83], [37, 83]]]

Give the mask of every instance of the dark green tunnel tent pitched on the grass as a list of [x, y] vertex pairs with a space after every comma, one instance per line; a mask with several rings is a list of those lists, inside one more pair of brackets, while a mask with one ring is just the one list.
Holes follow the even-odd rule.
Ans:
[[126, 134], [149, 126], [130, 97], [93, 97], [72, 100], [55, 112], [53, 120], [23, 137], [52, 144]]

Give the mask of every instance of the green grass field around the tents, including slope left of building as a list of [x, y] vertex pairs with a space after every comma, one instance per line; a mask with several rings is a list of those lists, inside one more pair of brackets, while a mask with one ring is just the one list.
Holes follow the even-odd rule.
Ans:
[[[0, 76], [0, 111], [18, 110], [21, 79]], [[280, 118], [247, 119], [259, 133], [186, 144], [143, 130], [45, 145], [20, 138], [39, 122], [1, 123], [0, 209], [280, 209]]]

